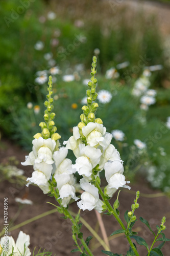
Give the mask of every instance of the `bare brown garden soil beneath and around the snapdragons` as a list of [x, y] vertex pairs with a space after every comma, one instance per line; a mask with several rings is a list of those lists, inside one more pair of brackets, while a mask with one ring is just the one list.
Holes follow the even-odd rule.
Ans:
[[[3, 140], [1, 142], [0, 148], [0, 160], [1, 162], [7, 162], [8, 157], [15, 156], [19, 162], [25, 160], [25, 155], [28, 155], [28, 152], [23, 151], [19, 146], [14, 145], [10, 141]], [[31, 176], [32, 166], [21, 166], [18, 167], [25, 170], [26, 176]], [[170, 200], [168, 197], [163, 195], [159, 190], [153, 190], [149, 187], [149, 184], [146, 183], [143, 178], [138, 178], [138, 181], [135, 184], [131, 184], [131, 190], [123, 189], [119, 195], [120, 201], [120, 215], [123, 218], [123, 215], [127, 209], [131, 209], [131, 204], [135, 198], [135, 191], [140, 190], [141, 196], [138, 200], [139, 209], [136, 210], [136, 216], [138, 221], [134, 226], [134, 231], [137, 231], [139, 236], [147, 240], [148, 244], [151, 246], [154, 237], [152, 233], [148, 230], [143, 223], [140, 222], [139, 217], [147, 219], [156, 232], [156, 225], [160, 225], [161, 219], [163, 216], [166, 217], [166, 227], [164, 231], [167, 238], [170, 238]], [[8, 181], [1, 183], [1, 227], [4, 225], [4, 214], [3, 214], [3, 203], [4, 198], [8, 198], [8, 220], [16, 217], [18, 212], [18, 203], [15, 202], [15, 197], [28, 198], [33, 201], [33, 205], [25, 205], [20, 211], [19, 216], [14, 221], [13, 226], [18, 225], [26, 220], [34, 218], [35, 216], [41, 215], [44, 212], [55, 209], [55, 207], [47, 202], [53, 204], [55, 202], [54, 198], [43, 195], [42, 191], [36, 187], [30, 185], [29, 188], [26, 186], [18, 186], [16, 184], [11, 184]], [[110, 200], [110, 203], [113, 204], [116, 199], [116, 195]], [[77, 212], [78, 207], [76, 203], [73, 203], [69, 206], [71, 211]], [[90, 227], [95, 228], [99, 236], [102, 237], [100, 227], [96, 218], [95, 211], [82, 211], [81, 216], [85, 221], [90, 225]], [[13, 236], [16, 240], [20, 230], [30, 235], [30, 249], [33, 252], [35, 247], [36, 251], [41, 247], [46, 250], [53, 251], [53, 255], [64, 256], [64, 255], [80, 255], [78, 252], [71, 253], [72, 249], [75, 249], [74, 241], [71, 238], [71, 224], [69, 220], [61, 218], [58, 212], [54, 212], [51, 215], [47, 215], [38, 220], [35, 220], [29, 224], [16, 228], [12, 231], [9, 230], [9, 235]], [[116, 229], [120, 229], [119, 225], [116, 223], [115, 219], [112, 216], [103, 215], [102, 217], [107, 236], [110, 237], [110, 234]], [[84, 238], [90, 236], [90, 232], [83, 225], [82, 232], [84, 233]], [[111, 251], [114, 253], [123, 253], [126, 254], [126, 251], [129, 248], [128, 242], [124, 235], [118, 234], [117, 237], [110, 237], [109, 241]], [[102, 256], [106, 255], [101, 252], [104, 249], [100, 246], [98, 240], [93, 238], [90, 242], [91, 249], [93, 250], [94, 255]], [[147, 250], [144, 246], [137, 245], [139, 254], [141, 256], [147, 255]], [[162, 252], [165, 256], [169, 255], [170, 243], [166, 242]]]

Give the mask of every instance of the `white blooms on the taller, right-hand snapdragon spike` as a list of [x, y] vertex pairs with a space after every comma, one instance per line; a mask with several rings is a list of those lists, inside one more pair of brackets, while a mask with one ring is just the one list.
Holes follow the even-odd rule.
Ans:
[[[76, 163], [72, 164], [74, 173], [78, 172], [83, 178], [80, 180], [80, 186], [84, 190], [81, 195], [81, 201], [78, 206], [85, 210], [96, 209], [99, 212], [103, 210], [103, 202], [99, 199], [98, 188], [90, 183], [93, 169], [97, 166], [99, 172], [105, 169], [105, 177], [108, 185], [105, 188], [105, 194], [112, 197], [118, 187], [126, 186], [125, 176], [123, 175], [123, 161], [119, 153], [110, 143], [112, 135], [106, 132], [103, 124], [89, 122], [81, 130], [86, 145], [82, 142], [78, 126], [73, 129], [73, 136], [68, 141], [64, 141], [66, 148], [73, 151], [76, 156]], [[127, 182], [129, 183], [129, 182]]]

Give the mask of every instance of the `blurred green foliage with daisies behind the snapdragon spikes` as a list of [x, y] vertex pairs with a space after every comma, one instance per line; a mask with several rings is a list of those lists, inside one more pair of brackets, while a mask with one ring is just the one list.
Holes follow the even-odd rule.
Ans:
[[[67, 140], [80, 121], [84, 79], [90, 79], [95, 54], [98, 92], [112, 95], [107, 103], [98, 101], [97, 117], [108, 132], [125, 134], [124, 140], [113, 138], [112, 143], [124, 160], [126, 175], [143, 174], [153, 187], [168, 192], [170, 38], [160, 31], [157, 15], [132, 7], [112, 0], [2, 1], [0, 129], [3, 137], [31, 150], [43, 121], [47, 76], [52, 74], [55, 121], [61, 142]], [[144, 69], [150, 71], [144, 76], [149, 89], [157, 94], [148, 110], [141, 109], [141, 98], [133, 94]], [[138, 148], [135, 139], [146, 147]]]

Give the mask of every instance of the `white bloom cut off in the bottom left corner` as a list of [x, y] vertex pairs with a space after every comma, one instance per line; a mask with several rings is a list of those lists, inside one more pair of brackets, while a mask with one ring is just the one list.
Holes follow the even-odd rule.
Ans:
[[[8, 240], [8, 245], [6, 243]], [[7, 254], [5, 255], [15, 255], [15, 256], [30, 256], [31, 251], [28, 248], [30, 245], [30, 236], [28, 234], [23, 233], [22, 231], [19, 232], [18, 238], [16, 243], [13, 237], [3, 237], [1, 238], [0, 244], [4, 250], [8, 250]], [[7, 247], [7, 248], [6, 248]], [[1, 255], [4, 255], [3, 253]]]

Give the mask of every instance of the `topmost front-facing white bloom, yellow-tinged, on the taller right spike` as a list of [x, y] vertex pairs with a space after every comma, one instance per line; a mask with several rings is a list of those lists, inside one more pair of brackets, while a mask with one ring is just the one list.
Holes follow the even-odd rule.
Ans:
[[88, 145], [98, 146], [104, 140], [103, 135], [106, 133], [106, 127], [103, 124], [89, 122], [82, 128], [82, 133], [86, 137]]

